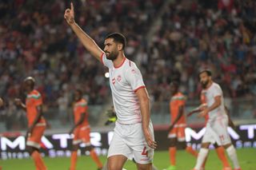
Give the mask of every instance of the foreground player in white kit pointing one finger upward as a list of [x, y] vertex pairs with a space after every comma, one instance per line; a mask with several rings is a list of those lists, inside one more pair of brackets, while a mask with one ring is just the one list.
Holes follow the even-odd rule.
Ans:
[[65, 10], [64, 18], [82, 45], [109, 68], [110, 88], [118, 121], [110, 143], [109, 170], [121, 170], [134, 156], [138, 169], [152, 169], [154, 148], [153, 125], [150, 121], [150, 99], [142, 74], [133, 61], [124, 55], [126, 38], [114, 33], [106, 37], [104, 51], [74, 22], [74, 6]]

